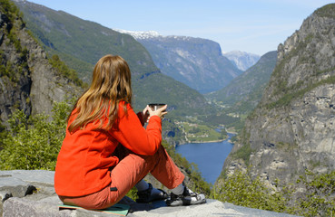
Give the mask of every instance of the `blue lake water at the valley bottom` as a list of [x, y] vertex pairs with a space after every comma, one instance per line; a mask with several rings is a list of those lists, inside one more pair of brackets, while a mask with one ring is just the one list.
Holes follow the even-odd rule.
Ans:
[[222, 171], [224, 160], [232, 150], [233, 144], [228, 140], [214, 143], [189, 143], [176, 146], [176, 152], [184, 156], [190, 163], [198, 165], [202, 177], [207, 183], [214, 184]]

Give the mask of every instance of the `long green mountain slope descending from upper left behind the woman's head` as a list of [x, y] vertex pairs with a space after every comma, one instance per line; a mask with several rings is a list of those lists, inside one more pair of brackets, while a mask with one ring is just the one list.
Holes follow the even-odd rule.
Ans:
[[15, 4], [46, 52], [57, 54], [85, 81], [90, 81], [94, 64], [103, 55], [122, 56], [132, 71], [135, 109], [163, 102], [172, 109], [171, 115], [192, 116], [211, 110], [200, 93], [161, 73], [149, 52], [132, 36], [43, 5], [19, 0]]

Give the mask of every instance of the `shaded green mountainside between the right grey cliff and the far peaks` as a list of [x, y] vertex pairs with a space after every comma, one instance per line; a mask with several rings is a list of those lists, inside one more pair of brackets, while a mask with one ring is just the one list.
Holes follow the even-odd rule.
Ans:
[[261, 100], [276, 65], [277, 52], [267, 52], [256, 64], [231, 81], [231, 83], [206, 95], [211, 100], [231, 108], [235, 113], [249, 113]]

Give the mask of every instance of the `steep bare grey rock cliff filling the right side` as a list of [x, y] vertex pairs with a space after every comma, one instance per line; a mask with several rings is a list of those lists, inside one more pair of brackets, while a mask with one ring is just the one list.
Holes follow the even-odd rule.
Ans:
[[278, 47], [261, 103], [224, 163], [228, 173], [251, 165], [272, 184], [293, 183], [305, 169], [335, 169], [335, 4], [311, 14]]

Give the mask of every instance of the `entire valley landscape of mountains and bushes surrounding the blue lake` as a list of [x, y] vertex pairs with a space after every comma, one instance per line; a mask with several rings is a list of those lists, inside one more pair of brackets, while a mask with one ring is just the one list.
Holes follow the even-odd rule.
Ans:
[[[13, 169], [8, 162], [29, 168], [28, 156], [17, 156], [17, 150], [33, 153], [34, 164], [35, 153], [49, 154], [51, 147], [52, 156], [39, 166], [54, 168], [70, 105], [87, 88], [95, 61], [113, 53], [129, 62], [135, 111], [148, 103], [168, 104], [163, 146], [193, 188], [277, 212], [309, 213], [306, 202], [320, 207], [314, 216], [334, 211], [335, 4], [316, 9], [277, 51], [247, 57], [255, 61], [248, 64], [230, 61], [211, 40], [156, 33], [136, 38], [17, 0], [21, 17], [11, 4], [4, 1], [0, 8], [3, 169]], [[237, 134], [232, 152], [210, 186], [175, 147], [222, 141], [232, 136], [227, 131]], [[314, 181], [325, 192], [310, 193]], [[249, 187], [255, 188], [244, 195]]]

